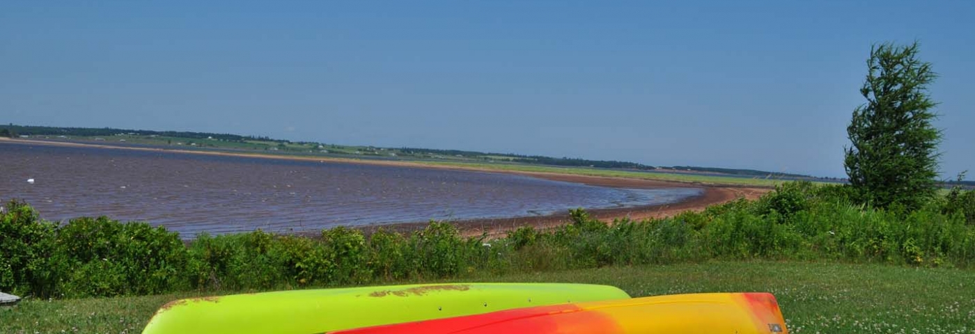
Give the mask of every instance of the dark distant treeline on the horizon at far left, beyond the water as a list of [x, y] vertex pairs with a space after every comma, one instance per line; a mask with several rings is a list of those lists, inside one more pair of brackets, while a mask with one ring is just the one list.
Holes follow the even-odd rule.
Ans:
[[78, 136], [97, 136], [115, 135], [119, 133], [135, 133], [137, 135], [159, 135], [180, 138], [206, 139], [208, 137], [227, 141], [244, 140], [270, 140], [267, 137], [256, 137], [253, 135], [238, 135], [229, 133], [212, 132], [192, 132], [192, 131], [155, 131], [155, 130], [127, 130], [112, 128], [59, 128], [59, 127], [32, 127], [8, 125], [5, 127], [6, 133], [18, 135], [78, 135]]

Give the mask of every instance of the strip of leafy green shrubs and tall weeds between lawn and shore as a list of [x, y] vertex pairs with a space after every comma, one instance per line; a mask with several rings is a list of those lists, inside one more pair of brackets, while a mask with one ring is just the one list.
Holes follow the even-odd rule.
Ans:
[[945, 198], [904, 212], [854, 205], [847, 194], [845, 186], [792, 182], [754, 202], [611, 224], [575, 209], [563, 227], [523, 227], [491, 241], [431, 222], [410, 234], [336, 228], [311, 239], [254, 231], [201, 235], [188, 245], [165, 228], [105, 217], [58, 226], [11, 202], [0, 214], [0, 290], [45, 298], [238, 291], [710, 259], [975, 264], [966, 204]]

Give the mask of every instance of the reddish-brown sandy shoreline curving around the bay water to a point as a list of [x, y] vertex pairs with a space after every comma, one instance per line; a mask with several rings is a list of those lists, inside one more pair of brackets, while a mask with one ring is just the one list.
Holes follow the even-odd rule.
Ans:
[[[557, 173], [557, 172], [508, 170], [508, 169], [480, 168], [480, 167], [441, 166], [441, 165], [423, 164], [423, 163], [415, 163], [415, 162], [407, 162], [407, 161], [359, 160], [359, 159], [329, 158], [329, 157], [293, 157], [293, 156], [270, 155], [270, 154], [260, 154], [260, 153], [251, 154], [251, 153], [234, 153], [234, 152], [197, 151], [197, 150], [185, 150], [185, 149], [163, 149], [163, 148], [152, 148], [152, 147], [100, 145], [100, 144], [91, 144], [91, 143], [49, 141], [49, 140], [36, 140], [36, 139], [11, 139], [5, 137], [0, 137], [0, 142], [25, 144], [25, 145], [34, 144], [34, 145], [49, 145], [49, 146], [91, 147], [91, 148], [118, 149], [118, 150], [170, 152], [170, 153], [185, 153], [185, 154], [198, 154], [198, 155], [210, 155], [210, 156], [277, 159], [277, 160], [307, 161], [307, 162], [321, 162], [321, 163], [415, 167], [415, 168], [506, 173], [506, 174], [524, 175], [524, 176], [537, 177], [537, 178], [543, 178], [548, 180], [580, 183], [580, 184], [587, 184], [592, 186], [611, 187], [611, 188], [635, 188], [635, 189], [701, 188], [703, 189], [703, 192], [700, 196], [691, 197], [674, 204], [651, 204], [651, 205], [620, 207], [620, 208], [588, 209], [590, 213], [593, 214], [595, 217], [607, 222], [612, 221], [613, 219], [619, 219], [624, 217], [629, 217], [632, 219], [645, 219], [651, 217], [660, 218], [660, 217], [673, 216], [686, 210], [702, 210], [708, 205], [722, 204], [729, 201], [733, 201], [738, 198], [756, 199], [760, 197], [761, 194], [764, 194], [769, 191], [768, 188], [755, 187], [755, 186], [751, 186], [751, 187], [711, 186], [711, 185], [703, 185], [703, 184], [695, 184], [695, 183], [650, 180], [650, 179], [641, 179], [641, 178], [592, 176], [592, 175], [579, 175], [579, 174], [568, 174], [568, 173]], [[506, 231], [509, 231], [513, 228], [517, 228], [520, 226], [525, 226], [525, 225], [531, 225], [536, 228], [542, 228], [542, 229], [556, 227], [564, 224], [567, 221], [567, 218], [568, 218], [567, 212], [564, 212], [564, 213], [556, 213], [556, 214], [543, 215], [543, 216], [463, 220], [463, 221], [458, 221], [457, 223], [458, 226], [460, 226], [461, 231], [465, 235], [473, 236], [473, 235], [487, 234], [488, 236], [500, 236], [503, 235]], [[383, 225], [367, 225], [361, 227], [357, 226], [356, 228], [361, 228], [363, 230], [371, 231], [382, 227], [387, 230], [393, 230], [393, 231], [411, 231], [411, 230], [420, 229], [423, 226], [426, 226], [426, 224], [427, 223], [425, 222], [393, 223], [393, 224], [383, 224]]]

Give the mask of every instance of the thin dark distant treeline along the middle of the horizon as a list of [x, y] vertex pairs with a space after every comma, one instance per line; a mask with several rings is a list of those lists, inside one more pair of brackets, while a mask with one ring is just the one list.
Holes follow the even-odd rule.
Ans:
[[486, 156], [496, 156], [510, 158], [509, 160], [514, 163], [522, 164], [540, 164], [540, 165], [552, 165], [552, 166], [567, 166], [567, 167], [599, 167], [599, 168], [628, 168], [628, 169], [654, 169], [655, 167], [646, 166], [643, 164], [629, 163], [629, 162], [617, 162], [617, 161], [604, 161], [604, 160], [586, 160], [577, 158], [552, 158], [543, 156], [523, 156], [511, 153], [484, 153], [475, 151], [460, 151], [460, 150], [437, 150], [437, 149], [427, 149], [427, 148], [412, 148], [405, 147], [401, 149], [403, 153], [407, 154], [432, 154], [441, 156], [460, 156], [467, 158], [483, 158]]

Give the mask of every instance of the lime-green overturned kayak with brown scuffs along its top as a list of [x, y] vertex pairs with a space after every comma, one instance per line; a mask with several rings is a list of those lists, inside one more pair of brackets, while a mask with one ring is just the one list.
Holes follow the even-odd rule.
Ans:
[[143, 334], [309, 334], [501, 310], [629, 299], [617, 287], [448, 283], [293, 290], [177, 300]]

